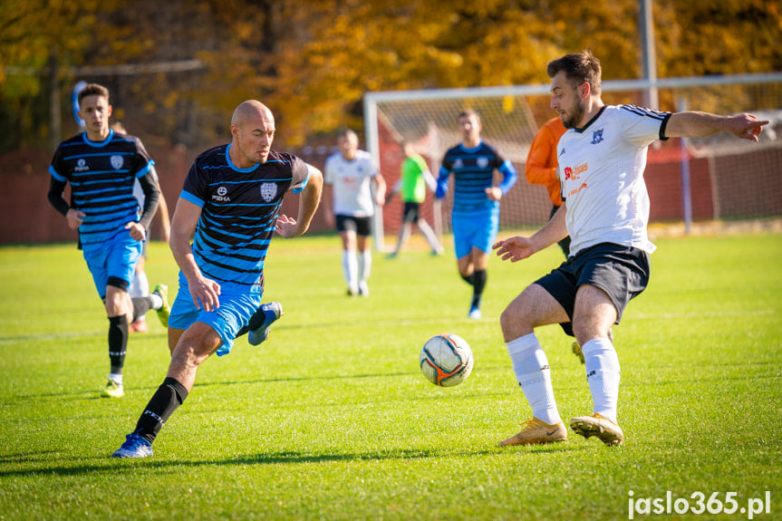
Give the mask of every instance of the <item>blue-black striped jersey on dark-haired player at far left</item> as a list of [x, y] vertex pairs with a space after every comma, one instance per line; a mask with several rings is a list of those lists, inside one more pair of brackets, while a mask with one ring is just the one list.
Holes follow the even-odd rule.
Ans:
[[71, 183], [71, 207], [86, 214], [79, 227], [82, 245], [103, 243], [139, 221], [133, 184], [154, 164], [138, 138], [113, 130], [103, 141], [82, 132], [57, 147], [49, 173]]

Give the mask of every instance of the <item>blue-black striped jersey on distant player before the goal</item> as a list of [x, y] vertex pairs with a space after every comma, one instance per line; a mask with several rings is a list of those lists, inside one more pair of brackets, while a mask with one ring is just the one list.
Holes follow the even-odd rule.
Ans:
[[466, 149], [459, 144], [449, 149], [442, 159], [439, 180], [448, 173], [453, 173], [453, 208], [455, 210], [472, 210], [496, 205], [486, 195], [486, 188], [491, 188], [494, 180], [494, 170], [505, 162], [497, 150], [482, 142], [474, 149]]

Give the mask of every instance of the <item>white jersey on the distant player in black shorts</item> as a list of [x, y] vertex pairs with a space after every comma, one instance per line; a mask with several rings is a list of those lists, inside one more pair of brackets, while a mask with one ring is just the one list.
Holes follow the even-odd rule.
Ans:
[[336, 152], [326, 159], [323, 182], [332, 186], [334, 215], [351, 217], [372, 217], [371, 179], [377, 175], [372, 155], [366, 150], [357, 150], [356, 157], [349, 161]]

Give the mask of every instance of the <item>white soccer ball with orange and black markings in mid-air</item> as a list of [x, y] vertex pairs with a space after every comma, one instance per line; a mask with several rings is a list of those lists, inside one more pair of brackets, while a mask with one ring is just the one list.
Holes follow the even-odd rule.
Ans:
[[419, 363], [424, 378], [440, 387], [452, 387], [472, 372], [472, 350], [460, 336], [439, 334], [423, 344]]

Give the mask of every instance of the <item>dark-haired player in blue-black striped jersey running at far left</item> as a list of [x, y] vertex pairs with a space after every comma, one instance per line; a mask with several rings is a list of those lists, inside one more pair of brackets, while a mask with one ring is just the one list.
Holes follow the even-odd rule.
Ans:
[[[141, 248], [158, 208], [160, 189], [151, 172], [150, 159], [141, 141], [109, 128], [109, 90], [91, 83], [78, 94], [79, 117], [85, 131], [63, 141], [54, 152], [49, 172], [50, 204], [79, 232], [79, 247], [109, 318], [111, 372], [102, 397], [121, 398], [122, 370], [128, 348], [129, 325], [152, 308], [160, 322], [168, 324], [168, 288], [143, 298], [130, 298]], [[144, 192], [144, 207], [133, 197], [138, 179]], [[63, 198], [71, 184], [71, 204]]]

